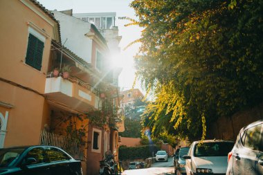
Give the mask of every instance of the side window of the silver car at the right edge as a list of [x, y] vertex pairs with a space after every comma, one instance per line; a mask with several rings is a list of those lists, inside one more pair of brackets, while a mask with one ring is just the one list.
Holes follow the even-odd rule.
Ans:
[[262, 129], [262, 125], [257, 125], [255, 127], [251, 127], [246, 130], [244, 147], [248, 147], [253, 150], [260, 150], [261, 129]]

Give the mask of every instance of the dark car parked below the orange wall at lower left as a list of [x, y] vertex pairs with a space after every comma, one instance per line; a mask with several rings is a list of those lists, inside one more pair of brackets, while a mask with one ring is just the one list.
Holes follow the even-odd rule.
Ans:
[[0, 174], [82, 175], [82, 167], [58, 147], [12, 147], [0, 149]]

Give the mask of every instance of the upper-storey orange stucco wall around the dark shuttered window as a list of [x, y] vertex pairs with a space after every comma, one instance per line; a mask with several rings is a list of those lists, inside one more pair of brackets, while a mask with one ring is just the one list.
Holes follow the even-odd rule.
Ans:
[[[30, 1], [28, 4], [33, 6]], [[36, 12], [46, 17], [44, 12], [35, 8]], [[36, 12], [21, 1], [0, 1], [0, 48], [2, 50], [0, 52], [0, 77], [44, 93], [53, 26], [39, 17]], [[44, 45], [41, 71], [37, 71], [25, 63], [28, 46], [28, 21], [35, 24], [37, 28], [45, 30], [49, 35]]]

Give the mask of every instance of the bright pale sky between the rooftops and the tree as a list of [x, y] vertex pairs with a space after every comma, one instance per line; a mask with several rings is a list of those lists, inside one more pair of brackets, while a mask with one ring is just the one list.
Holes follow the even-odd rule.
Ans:
[[[134, 59], [133, 56], [138, 52], [140, 44], [134, 44], [123, 50], [130, 42], [140, 38], [140, 31], [138, 26], [128, 26], [129, 21], [118, 19], [118, 17], [130, 17], [136, 19], [133, 8], [129, 7], [132, 0], [37, 0], [48, 10], [69, 10], [73, 9], [73, 13], [84, 12], [116, 12], [116, 26], [119, 29], [119, 35], [123, 38], [120, 41], [121, 53], [118, 58], [118, 66], [123, 68], [119, 76], [120, 91], [125, 91], [132, 88], [134, 82]], [[140, 83], [136, 82], [134, 88], [141, 89]]]

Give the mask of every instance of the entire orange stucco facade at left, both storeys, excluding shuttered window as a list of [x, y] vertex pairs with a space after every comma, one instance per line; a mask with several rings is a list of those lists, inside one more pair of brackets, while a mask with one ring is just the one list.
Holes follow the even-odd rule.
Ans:
[[[0, 1], [0, 21], [0, 77], [14, 82], [0, 81], [0, 102], [13, 106], [10, 109], [0, 107], [2, 114], [9, 112], [4, 147], [38, 145], [42, 122], [48, 122], [44, 97], [38, 93], [44, 93], [56, 22], [28, 0]], [[25, 63], [29, 28], [44, 38], [40, 71]]]

